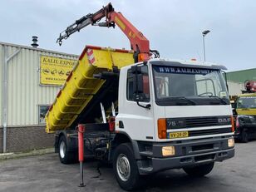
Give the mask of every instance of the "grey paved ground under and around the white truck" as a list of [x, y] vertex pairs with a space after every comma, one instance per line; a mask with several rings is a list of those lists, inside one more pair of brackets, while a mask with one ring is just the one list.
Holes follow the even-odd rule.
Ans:
[[[204, 178], [193, 179], [182, 170], [169, 170], [150, 177], [145, 192], [156, 191], [256, 191], [256, 141], [236, 145], [234, 159], [217, 163]], [[79, 184], [79, 165], [62, 165], [57, 154], [0, 161], [0, 191], [122, 191], [111, 168], [86, 162], [85, 188]]]

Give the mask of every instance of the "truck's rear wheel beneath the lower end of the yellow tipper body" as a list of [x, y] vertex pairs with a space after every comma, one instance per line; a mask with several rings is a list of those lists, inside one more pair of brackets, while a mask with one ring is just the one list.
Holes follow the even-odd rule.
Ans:
[[62, 135], [59, 140], [59, 158], [62, 164], [72, 164], [77, 162], [77, 153], [67, 151], [66, 136]]

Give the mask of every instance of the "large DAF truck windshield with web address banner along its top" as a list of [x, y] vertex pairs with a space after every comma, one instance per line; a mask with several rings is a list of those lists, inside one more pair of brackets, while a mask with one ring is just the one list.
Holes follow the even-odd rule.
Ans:
[[229, 105], [229, 95], [219, 70], [153, 66], [158, 105]]

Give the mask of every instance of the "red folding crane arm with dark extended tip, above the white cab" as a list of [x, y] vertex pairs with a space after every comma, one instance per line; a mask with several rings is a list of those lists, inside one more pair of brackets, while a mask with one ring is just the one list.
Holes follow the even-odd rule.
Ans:
[[[100, 22], [103, 17], [106, 17], [105, 22]], [[62, 45], [62, 40], [67, 39], [72, 33], [80, 32], [83, 27], [88, 25], [99, 27], [118, 27], [126, 34], [126, 37], [130, 40], [131, 50], [134, 51], [135, 62], [148, 61], [150, 57], [159, 58], [160, 54], [156, 50], [150, 50], [149, 40], [134, 27], [121, 12], [116, 12], [112, 7], [111, 2], [102, 7], [101, 10], [76, 20], [66, 30], [60, 33], [60, 37], [57, 38], [59, 45]]]

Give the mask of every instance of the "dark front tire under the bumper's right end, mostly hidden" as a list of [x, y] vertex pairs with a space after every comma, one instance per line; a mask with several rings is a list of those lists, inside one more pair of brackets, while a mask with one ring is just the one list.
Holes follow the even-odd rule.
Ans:
[[202, 177], [204, 175], [209, 174], [211, 170], [214, 168], [214, 162], [205, 164], [205, 165], [199, 165], [194, 167], [185, 167], [183, 170], [190, 176], [194, 177]]

